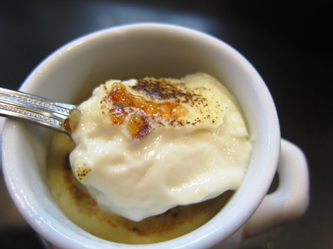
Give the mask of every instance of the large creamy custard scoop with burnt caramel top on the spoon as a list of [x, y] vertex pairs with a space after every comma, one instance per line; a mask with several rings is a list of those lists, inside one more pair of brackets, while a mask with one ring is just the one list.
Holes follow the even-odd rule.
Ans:
[[78, 107], [74, 175], [105, 212], [133, 221], [237, 190], [251, 143], [210, 75], [110, 80]]

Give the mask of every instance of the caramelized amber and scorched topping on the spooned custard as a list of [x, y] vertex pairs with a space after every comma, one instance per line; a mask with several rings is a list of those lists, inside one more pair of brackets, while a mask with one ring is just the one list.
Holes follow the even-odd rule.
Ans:
[[134, 140], [157, 127], [207, 127], [223, 112], [219, 101], [212, 104], [212, 89], [172, 78], [144, 77], [134, 85], [114, 81], [103, 91], [102, 115], [116, 126], [123, 124]]

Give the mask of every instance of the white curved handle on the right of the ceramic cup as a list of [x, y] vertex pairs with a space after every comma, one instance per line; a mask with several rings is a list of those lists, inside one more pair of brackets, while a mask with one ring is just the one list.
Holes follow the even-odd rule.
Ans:
[[279, 186], [267, 194], [253, 216], [244, 225], [244, 236], [296, 219], [309, 204], [309, 173], [305, 155], [296, 145], [282, 139], [278, 163]]

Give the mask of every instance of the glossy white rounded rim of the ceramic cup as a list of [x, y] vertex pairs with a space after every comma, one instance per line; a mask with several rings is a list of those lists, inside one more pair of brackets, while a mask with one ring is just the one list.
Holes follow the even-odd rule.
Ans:
[[[189, 34], [191, 36], [200, 37], [200, 39], [209, 39], [211, 42], [217, 42], [223, 46], [225, 46], [225, 49], [228, 50], [228, 53], [232, 53], [237, 56], [237, 59], [240, 59], [241, 62], [244, 64], [244, 66], [247, 68], [249, 73], [252, 75], [252, 77], [255, 77], [257, 79], [257, 86], [256, 90], [259, 93], [259, 95], [262, 96], [263, 100], [267, 104], [267, 113], [266, 118], [268, 119], [267, 122], [271, 124], [269, 127], [271, 138], [271, 142], [268, 144], [269, 147], [271, 147], [271, 163], [270, 165], [266, 165], [266, 169], [264, 169], [264, 172], [262, 174], [266, 174], [268, 176], [264, 181], [261, 183], [257, 183], [257, 195], [253, 196], [252, 203], [248, 203], [248, 208], [244, 210], [237, 210], [239, 212], [237, 216], [237, 221], [234, 219], [225, 219], [225, 216], [228, 216], [228, 213], [235, 212], [234, 210], [231, 210], [231, 205], [236, 205], [237, 207], [240, 207], [239, 199], [232, 198], [230, 200], [230, 204], [227, 205], [226, 208], [223, 208], [223, 212], [219, 212], [216, 214], [215, 218], [211, 221], [208, 221], [205, 225], [198, 228], [197, 230], [194, 230], [193, 232], [190, 232], [189, 234], [185, 234], [182, 237], [178, 237], [176, 239], [172, 239], [170, 241], [165, 241], [162, 243], [151, 243], [151, 244], [145, 244], [145, 245], [123, 245], [119, 243], [114, 243], [112, 241], [108, 241], [106, 245], [108, 246], [122, 246], [123, 248], [155, 248], [157, 245], [160, 246], [160, 248], [178, 248], [181, 246], [182, 248], [202, 248], [207, 246], [214, 246], [216, 243], [220, 242], [220, 239], [227, 239], [234, 233], [235, 231], [239, 230], [241, 228], [241, 225], [244, 224], [244, 221], [250, 218], [250, 216], [255, 212], [257, 207], [259, 206], [259, 203], [261, 203], [262, 199], [266, 195], [266, 192], [268, 190], [268, 187], [271, 185], [271, 180], [273, 179], [273, 175], [276, 171], [276, 162], [278, 160], [278, 154], [280, 153], [280, 128], [278, 124], [278, 116], [275, 110], [275, 106], [273, 103], [273, 99], [271, 98], [271, 94], [269, 93], [266, 84], [264, 84], [264, 81], [259, 76], [259, 73], [253, 68], [253, 66], [248, 62], [247, 59], [244, 58], [243, 55], [241, 55], [237, 50], [226, 44], [225, 42], [222, 42], [219, 39], [216, 39], [215, 37], [212, 37], [211, 35], [207, 35], [201, 31], [194, 30], [187, 27], [182, 26], [176, 26], [173, 24], [157, 24], [157, 23], [142, 23], [142, 24], [126, 24], [121, 26], [114, 26], [111, 28], [104, 28], [102, 30], [97, 30], [93, 33], [88, 33], [87, 35], [83, 35], [81, 37], [78, 37], [77, 39], [74, 39], [73, 41], [65, 44], [64, 46], [58, 48], [55, 52], [53, 52], [49, 57], [46, 57], [40, 64], [36, 66], [36, 68], [33, 70], [33, 72], [28, 75], [24, 83], [22, 84], [20, 90], [27, 91], [27, 92], [33, 92], [38, 87], [36, 84], [31, 84], [33, 82], [35, 76], [40, 73], [38, 70], [40, 68], [44, 68], [49, 66], [50, 63], [55, 62], [58, 57], [64, 52], [67, 52], [68, 50], [71, 50], [75, 48], [76, 46], [79, 46], [80, 44], [83, 44], [87, 41], [92, 41], [93, 39], [98, 39], [101, 35], [110, 35], [110, 33], [113, 33], [115, 31], [119, 32], [121, 30], [129, 30], [129, 29], [137, 29], [137, 28], [151, 28], [151, 29], [160, 29], [160, 28], [166, 28], [171, 30], [176, 30], [177, 32], [182, 32]], [[5, 129], [3, 132], [3, 148], [12, 146], [12, 143], [15, 142], [11, 139], [11, 135], [15, 130], [17, 129], [17, 121], [14, 120], [8, 120], [5, 124]], [[10, 153], [9, 153], [10, 154]], [[105, 241], [103, 239], [94, 239], [94, 242], [96, 245], [85, 245], [83, 246], [83, 243], [85, 243], [82, 238], [77, 238], [80, 241], [76, 241], [76, 239], [73, 239], [68, 236], [68, 234], [65, 234], [66, 232], [61, 232], [59, 230], [55, 230], [51, 225], [47, 223], [47, 221], [44, 221], [42, 217], [32, 217], [31, 214], [28, 213], [28, 210], [26, 210], [26, 205], [22, 204], [22, 198], [25, 198], [26, 196], [22, 196], [22, 193], [19, 192], [19, 189], [17, 189], [15, 186], [17, 186], [17, 183], [19, 179], [16, 178], [15, 172], [12, 172], [12, 169], [15, 169], [15, 165], [12, 165], [10, 163], [10, 155], [8, 155], [4, 149], [2, 150], [2, 161], [3, 161], [3, 174], [5, 176], [6, 185], [8, 186], [8, 190], [10, 192], [10, 195], [12, 196], [12, 199], [15, 201], [15, 205], [17, 205], [17, 208], [19, 209], [19, 212], [22, 213], [22, 215], [25, 217], [26, 221], [39, 233], [44, 237], [47, 241], [56, 244], [58, 246], [61, 246], [63, 248], [103, 248], [105, 247]], [[244, 192], [244, 187], [239, 188], [237, 192]], [[259, 194], [258, 194], [259, 193]], [[237, 195], [238, 193], [236, 193]], [[224, 228], [221, 228], [221, 217], [223, 217], [224, 222], [229, 224], [229, 229], [225, 230]], [[233, 218], [233, 217], [232, 217]], [[43, 225], [40, 225], [40, 223], [44, 223]], [[210, 226], [210, 232], [207, 232], [205, 228], [207, 226]], [[45, 228], [45, 226], [49, 226], [48, 229]], [[230, 227], [232, 229], [230, 229]], [[216, 236], [216, 234], [219, 234], [219, 237]], [[90, 234], [89, 234], [90, 235]], [[92, 235], [91, 235], [92, 236]], [[61, 239], [60, 239], [61, 237]], [[93, 236], [92, 236], [93, 237]], [[196, 238], [196, 239], [194, 239]]]

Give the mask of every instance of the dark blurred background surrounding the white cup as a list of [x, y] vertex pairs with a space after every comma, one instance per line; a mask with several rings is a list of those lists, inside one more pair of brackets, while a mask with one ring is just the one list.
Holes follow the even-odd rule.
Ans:
[[[305, 151], [311, 176], [305, 216], [242, 248], [333, 248], [332, 10], [331, 1], [0, 0], [0, 86], [17, 89], [53, 50], [100, 28], [158, 21], [223, 39], [264, 78], [282, 136]], [[0, 179], [0, 247], [41, 248]]]

